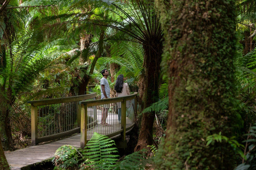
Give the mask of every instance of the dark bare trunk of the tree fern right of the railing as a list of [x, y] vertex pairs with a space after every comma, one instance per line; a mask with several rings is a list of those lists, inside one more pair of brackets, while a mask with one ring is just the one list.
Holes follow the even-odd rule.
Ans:
[[[159, 74], [161, 71], [160, 63], [162, 61], [163, 40], [162, 36], [158, 39], [151, 37], [148, 44], [143, 45], [145, 50], [141, 79], [139, 82], [139, 103], [143, 108], [149, 107], [159, 99]], [[153, 144], [153, 124], [155, 112], [144, 113], [140, 127], [140, 134], [137, 146], [134, 151], [141, 150], [148, 145]]]

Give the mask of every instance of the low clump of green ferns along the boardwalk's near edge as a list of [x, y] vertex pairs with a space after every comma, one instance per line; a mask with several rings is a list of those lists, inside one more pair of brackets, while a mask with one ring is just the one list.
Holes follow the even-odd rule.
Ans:
[[134, 152], [117, 163], [115, 142], [105, 135], [94, 133], [84, 149], [62, 146], [55, 152], [55, 169], [143, 169], [146, 150]]

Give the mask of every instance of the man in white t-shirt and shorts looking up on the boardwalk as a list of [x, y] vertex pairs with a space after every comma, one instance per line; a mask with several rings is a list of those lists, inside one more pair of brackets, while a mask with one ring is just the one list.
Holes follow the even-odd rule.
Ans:
[[[104, 69], [101, 71], [101, 74], [103, 75], [103, 78], [100, 79], [100, 91], [101, 91], [101, 99], [107, 99], [110, 98], [110, 87], [108, 84], [108, 75], [109, 72], [107, 69]], [[108, 109], [109, 109], [109, 104], [104, 105], [101, 113], [101, 125], [103, 126], [111, 126], [107, 124], [107, 116], [108, 116]]]

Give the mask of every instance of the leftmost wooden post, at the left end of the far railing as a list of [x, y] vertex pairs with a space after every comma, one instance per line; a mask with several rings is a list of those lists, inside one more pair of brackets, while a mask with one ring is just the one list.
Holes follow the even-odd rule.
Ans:
[[31, 104], [31, 145], [35, 146], [38, 143], [36, 139], [38, 138], [37, 134], [37, 107]]

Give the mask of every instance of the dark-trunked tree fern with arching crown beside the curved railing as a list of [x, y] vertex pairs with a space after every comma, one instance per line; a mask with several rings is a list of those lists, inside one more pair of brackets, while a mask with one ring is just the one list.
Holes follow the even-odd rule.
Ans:
[[[118, 22], [118, 26], [113, 24], [108, 26], [126, 33], [130, 36], [130, 40], [140, 43], [143, 48], [143, 68], [138, 83], [139, 103], [143, 109], [159, 99], [158, 88], [163, 53], [163, 30], [154, 8], [154, 1], [132, 0], [128, 3], [129, 7], [127, 8], [114, 3], [113, 5], [123, 14], [121, 16], [125, 19]], [[141, 150], [148, 145], [152, 145], [154, 119], [154, 112], [143, 114], [139, 140], [135, 150]]]

